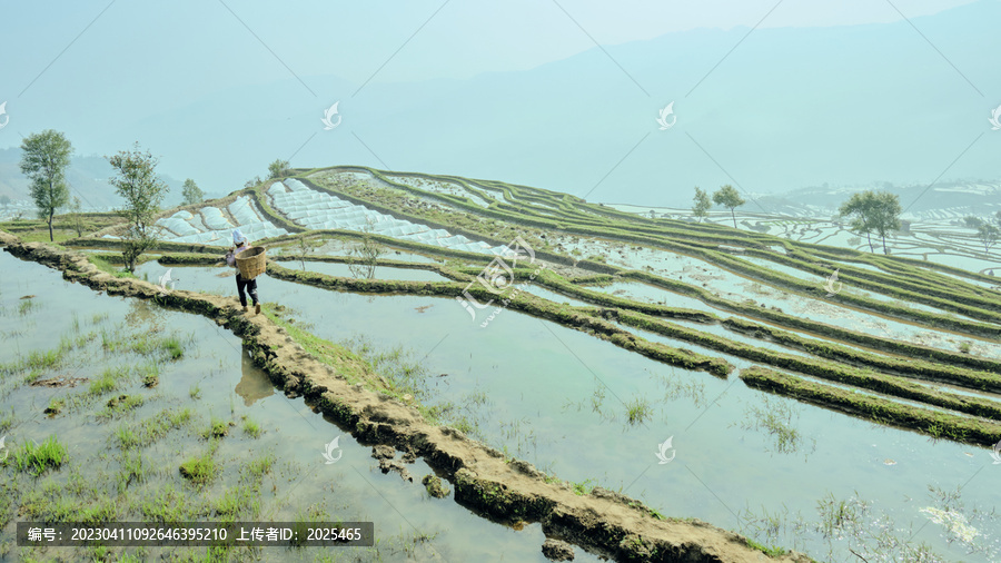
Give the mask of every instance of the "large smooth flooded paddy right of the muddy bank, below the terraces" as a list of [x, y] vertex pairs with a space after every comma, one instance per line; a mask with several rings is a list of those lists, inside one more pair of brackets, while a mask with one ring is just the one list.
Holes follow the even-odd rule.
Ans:
[[[211, 284], [211, 268], [184, 268], [199, 269], [200, 277], [181, 283]], [[727, 522], [734, 530], [760, 526], [753, 535], [759, 541], [814, 554], [831, 550], [830, 561], [844, 553], [839, 542], [801, 530], [811, 522], [823, 527], [825, 513], [817, 505], [830, 498], [854, 506], [860, 516], [923, 527], [913, 541], [940, 553], [958, 556], [969, 547], [950, 543], [951, 532], [921, 510], [941, 501], [929, 486], [954, 492], [962, 476], [978, 470], [984, 472], [978, 478], [989, 478], [983, 448], [930, 442], [765, 395], [735, 375], [724, 381], [664, 366], [516, 312], [480, 329], [470, 327], [453, 299], [334, 293], [268, 277], [260, 289], [267, 302], [294, 312], [297, 325], [331, 342], [373, 350], [406, 343], [403, 352], [428, 374], [424, 401], [446, 423], [585, 490], [622, 490], [663, 514]], [[752, 365], [724, 357], [737, 368]], [[655, 454], [667, 437], [676, 458], [662, 465]], [[765, 474], [789, 478], [764, 480]], [[978, 507], [970, 517], [981, 518], [979, 525], [970, 525], [984, 534], [979, 549], [997, 549], [998, 523], [982, 513], [999, 500], [983, 491], [964, 501], [969, 511]], [[776, 513], [785, 518], [781, 533], [765, 525]]]

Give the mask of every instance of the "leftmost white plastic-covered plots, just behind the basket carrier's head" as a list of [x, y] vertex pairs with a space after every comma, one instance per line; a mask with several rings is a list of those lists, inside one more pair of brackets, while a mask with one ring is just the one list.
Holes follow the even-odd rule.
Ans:
[[239, 228], [251, 241], [288, 234], [284, 228], [264, 220], [262, 214], [257, 210], [247, 196], [238, 198], [227, 209], [236, 219], [236, 225], [216, 207], [202, 207], [197, 214], [178, 211], [166, 219], [158, 220], [157, 225], [167, 229], [166, 240], [222, 246], [231, 244], [235, 228]]

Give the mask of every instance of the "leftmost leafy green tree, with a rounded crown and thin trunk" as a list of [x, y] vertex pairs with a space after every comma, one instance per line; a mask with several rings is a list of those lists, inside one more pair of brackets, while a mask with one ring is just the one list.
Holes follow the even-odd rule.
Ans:
[[38, 208], [38, 217], [49, 223], [49, 240], [52, 241], [56, 209], [69, 204], [66, 168], [73, 146], [61, 132], [46, 129], [21, 141], [21, 172], [31, 180], [31, 197]]

